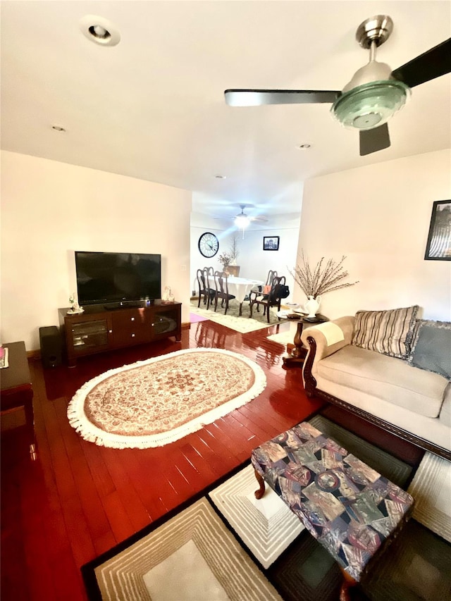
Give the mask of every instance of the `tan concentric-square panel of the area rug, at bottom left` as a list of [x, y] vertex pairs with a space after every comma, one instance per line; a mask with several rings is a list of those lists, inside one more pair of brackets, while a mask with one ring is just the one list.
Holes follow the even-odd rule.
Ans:
[[91, 599], [282, 601], [205, 498], [107, 554], [85, 581]]

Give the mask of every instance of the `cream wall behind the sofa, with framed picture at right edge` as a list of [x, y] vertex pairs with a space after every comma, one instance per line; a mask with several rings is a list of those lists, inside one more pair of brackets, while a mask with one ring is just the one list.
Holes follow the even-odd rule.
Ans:
[[[339, 260], [355, 286], [326, 294], [329, 318], [358, 309], [419, 304], [424, 318], [451, 319], [450, 261], [425, 261], [435, 200], [451, 198], [451, 152], [377, 163], [305, 182], [299, 252]], [[295, 299], [304, 302], [299, 288]]]

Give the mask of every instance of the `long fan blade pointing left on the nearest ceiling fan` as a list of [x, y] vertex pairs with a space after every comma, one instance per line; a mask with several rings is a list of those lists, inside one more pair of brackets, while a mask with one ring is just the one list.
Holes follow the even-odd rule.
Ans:
[[229, 106], [261, 106], [333, 102], [341, 92], [325, 89], [226, 89], [224, 95]]

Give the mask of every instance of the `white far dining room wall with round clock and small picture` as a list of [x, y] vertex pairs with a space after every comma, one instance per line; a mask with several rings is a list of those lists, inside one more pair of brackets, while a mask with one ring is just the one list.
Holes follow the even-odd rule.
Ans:
[[[299, 204], [301, 200], [299, 199]], [[266, 280], [266, 275], [270, 269], [278, 271], [280, 275], [285, 275], [290, 292], [294, 288], [294, 281], [288, 268], [293, 268], [296, 264], [297, 244], [299, 238], [299, 214], [280, 215], [271, 218], [268, 224], [252, 223], [245, 230], [243, 238], [242, 231], [237, 231], [228, 221], [218, 221], [209, 218], [203, 213], [192, 213], [191, 219], [191, 265], [192, 282], [196, 280], [196, 270], [199, 267], [213, 266], [220, 269], [221, 264], [218, 256], [221, 252], [230, 251], [230, 244], [233, 236], [237, 236], [239, 256], [237, 265], [240, 265], [240, 277], [251, 278], [254, 280]], [[204, 232], [216, 234], [219, 240], [219, 251], [213, 259], [206, 259], [199, 252], [197, 243], [199, 236]], [[263, 237], [279, 236], [278, 251], [264, 251]], [[198, 290], [194, 287], [193, 290]], [[291, 295], [290, 295], [291, 297]], [[290, 297], [285, 299], [290, 301]]]

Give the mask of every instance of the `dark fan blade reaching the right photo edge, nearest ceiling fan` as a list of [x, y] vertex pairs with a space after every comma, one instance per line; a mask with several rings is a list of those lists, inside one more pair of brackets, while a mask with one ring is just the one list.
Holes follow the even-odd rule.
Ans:
[[451, 72], [451, 37], [392, 71], [395, 79], [414, 87]]

